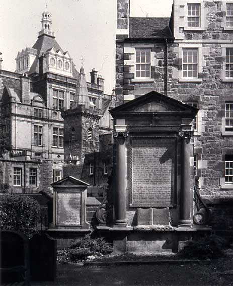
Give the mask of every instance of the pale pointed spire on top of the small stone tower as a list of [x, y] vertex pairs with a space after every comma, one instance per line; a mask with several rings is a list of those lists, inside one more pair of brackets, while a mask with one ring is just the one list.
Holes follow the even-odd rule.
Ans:
[[85, 108], [89, 108], [88, 88], [83, 63], [81, 64], [80, 74], [77, 78], [77, 87], [74, 96], [73, 108], [76, 108], [78, 105], [85, 105]]

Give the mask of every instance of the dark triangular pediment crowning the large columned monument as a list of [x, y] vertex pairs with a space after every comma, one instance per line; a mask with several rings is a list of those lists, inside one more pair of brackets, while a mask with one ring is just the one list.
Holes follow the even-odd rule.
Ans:
[[118, 107], [110, 110], [114, 117], [117, 113], [141, 113], [141, 112], [180, 112], [190, 111], [196, 112], [197, 108], [184, 104], [181, 101], [165, 96], [156, 91], [151, 91], [134, 100], [126, 102]]

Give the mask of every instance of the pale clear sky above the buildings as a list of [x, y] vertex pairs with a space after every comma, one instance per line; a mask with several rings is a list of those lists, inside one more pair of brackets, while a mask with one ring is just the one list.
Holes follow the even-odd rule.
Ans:
[[[1, 0], [0, 52], [2, 69], [15, 71], [18, 51], [32, 47], [41, 30], [41, 14], [52, 15], [58, 44], [68, 51], [77, 70], [81, 58], [89, 72], [95, 68], [105, 78], [105, 92], [115, 86], [115, 33], [117, 0]], [[130, 16], [170, 17], [173, 0], [130, 0]]]

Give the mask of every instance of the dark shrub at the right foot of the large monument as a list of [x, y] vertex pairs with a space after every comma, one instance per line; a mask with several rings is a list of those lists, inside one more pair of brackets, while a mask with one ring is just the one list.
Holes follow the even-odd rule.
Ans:
[[217, 235], [205, 236], [198, 240], [188, 241], [180, 251], [186, 258], [213, 259], [224, 256], [227, 242]]

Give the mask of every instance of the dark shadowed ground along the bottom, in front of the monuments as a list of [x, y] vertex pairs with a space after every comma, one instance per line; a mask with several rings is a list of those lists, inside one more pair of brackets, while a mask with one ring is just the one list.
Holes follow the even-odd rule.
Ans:
[[83, 267], [58, 265], [56, 283], [32, 283], [32, 286], [215, 286], [233, 285], [232, 258], [187, 265], [133, 265]]

